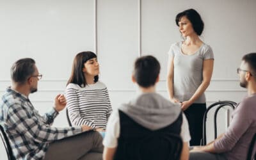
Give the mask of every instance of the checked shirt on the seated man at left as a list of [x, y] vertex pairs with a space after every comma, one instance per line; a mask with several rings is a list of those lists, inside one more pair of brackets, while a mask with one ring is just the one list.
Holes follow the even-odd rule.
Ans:
[[82, 132], [81, 127], [51, 127], [58, 112], [51, 108], [40, 116], [28, 97], [6, 89], [0, 100], [0, 123], [15, 159], [44, 159], [49, 143]]

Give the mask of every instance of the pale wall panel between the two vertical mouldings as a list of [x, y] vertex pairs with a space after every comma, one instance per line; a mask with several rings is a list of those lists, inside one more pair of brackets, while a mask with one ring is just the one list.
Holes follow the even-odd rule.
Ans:
[[98, 1], [98, 55], [101, 80], [108, 88], [132, 88], [138, 57], [138, 1]]

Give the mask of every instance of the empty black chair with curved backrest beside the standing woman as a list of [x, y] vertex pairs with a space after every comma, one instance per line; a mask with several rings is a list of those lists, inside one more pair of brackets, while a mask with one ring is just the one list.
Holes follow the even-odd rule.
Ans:
[[219, 102], [215, 102], [211, 104], [204, 113], [204, 119], [203, 119], [203, 138], [201, 140], [201, 145], [206, 145], [206, 120], [207, 120], [207, 114], [212, 108], [216, 108], [214, 112], [214, 139], [217, 138], [217, 115], [221, 108], [224, 106], [229, 106], [231, 109], [235, 109], [236, 102], [230, 101], [230, 100], [223, 100]]

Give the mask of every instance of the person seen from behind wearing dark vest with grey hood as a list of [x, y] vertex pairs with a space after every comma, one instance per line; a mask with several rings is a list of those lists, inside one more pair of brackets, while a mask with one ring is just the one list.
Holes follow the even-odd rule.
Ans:
[[[173, 104], [156, 93], [155, 84], [159, 81], [159, 72], [160, 64], [153, 56], [143, 56], [136, 60], [132, 81], [138, 84], [141, 93], [128, 104], [123, 104], [120, 108], [115, 109], [109, 116], [106, 136], [103, 140], [105, 147], [103, 158], [105, 160], [136, 160], [138, 159], [136, 157], [138, 150], [135, 147], [139, 146], [138, 143], [141, 139], [152, 135], [152, 133], [161, 138], [166, 132], [181, 136], [183, 148], [181, 148], [180, 159], [188, 159], [188, 141], [190, 140], [188, 121], [179, 104]], [[128, 141], [129, 144], [132, 141], [132, 145], [125, 145]], [[154, 145], [150, 145], [149, 148], [155, 149], [160, 145], [159, 143], [161, 141], [154, 141]], [[150, 149], [153, 150], [153, 154], [155, 153], [154, 149]], [[156, 148], [156, 150], [158, 149], [170, 152], [169, 148]], [[152, 153], [150, 150], [148, 152]], [[149, 153], [148, 155], [153, 155]], [[161, 159], [161, 156], [163, 155], [157, 159]], [[154, 159], [154, 157], [150, 157], [150, 159]]]

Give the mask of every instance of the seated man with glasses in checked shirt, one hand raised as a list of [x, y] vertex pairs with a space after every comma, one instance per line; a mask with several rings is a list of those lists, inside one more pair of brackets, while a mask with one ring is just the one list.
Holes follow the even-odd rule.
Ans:
[[11, 76], [12, 87], [6, 89], [0, 101], [0, 122], [14, 159], [102, 159], [99, 132], [79, 134], [88, 131], [87, 126], [51, 127], [58, 112], [66, 106], [63, 95], [56, 96], [54, 108], [44, 116], [33, 107], [29, 94], [36, 92], [38, 80], [42, 78], [33, 59], [16, 61]]

